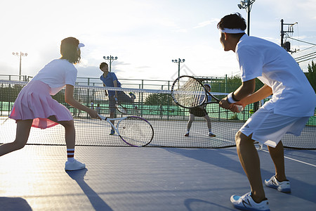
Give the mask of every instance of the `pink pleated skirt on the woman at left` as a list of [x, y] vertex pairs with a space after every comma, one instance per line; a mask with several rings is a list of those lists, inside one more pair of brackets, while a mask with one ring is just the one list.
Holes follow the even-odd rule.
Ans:
[[70, 111], [51, 97], [50, 90], [44, 82], [29, 82], [18, 94], [9, 117], [13, 120], [33, 120], [32, 127], [41, 129], [58, 124], [48, 120], [50, 116], [55, 116], [58, 121], [73, 120]]

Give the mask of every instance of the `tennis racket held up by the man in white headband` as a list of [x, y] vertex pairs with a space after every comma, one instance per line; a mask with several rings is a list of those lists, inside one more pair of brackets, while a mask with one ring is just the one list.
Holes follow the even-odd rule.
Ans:
[[[172, 84], [171, 96], [173, 101], [183, 108], [197, 108], [209, 103], [219, 103], [220, 100], [207, 91], [198, 79], [195, 77], [183, 75], [178, 77]], [[211, 96], [215, 101], [208, 101]], [[242, 106], [235, 105], [239, 111]]]

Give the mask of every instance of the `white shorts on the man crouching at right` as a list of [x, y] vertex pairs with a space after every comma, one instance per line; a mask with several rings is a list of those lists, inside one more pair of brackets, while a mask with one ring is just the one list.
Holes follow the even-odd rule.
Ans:
[[273, 110], [260, 108], [239, 129], [259, 143], [275, 147], [285, 134], [301, 135], [310, 117], [290, 117], [273, 113]]

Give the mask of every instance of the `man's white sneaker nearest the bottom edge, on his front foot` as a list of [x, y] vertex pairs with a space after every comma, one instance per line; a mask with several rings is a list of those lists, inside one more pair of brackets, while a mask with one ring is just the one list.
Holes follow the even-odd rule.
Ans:
[[244, 196], [232, 195], [230, 201], [239, 210], [270, 211], [268, 199], [263, 200], [261, 203], [256, 203], [251, 197], [251, 192], [244, 194]]

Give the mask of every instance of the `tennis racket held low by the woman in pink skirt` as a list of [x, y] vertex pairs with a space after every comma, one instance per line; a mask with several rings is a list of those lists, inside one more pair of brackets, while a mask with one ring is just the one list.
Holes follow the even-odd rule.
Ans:
[[[152, 124], [142, 117], [129, 116], [121, 118], [107, 118], [99, 115], [101, 120], [111, 124], [119, 137], [130, 146], [146, 146], [154, 138]], [[114, 127], [112, 120], [118, 120], [117, 127]]]

